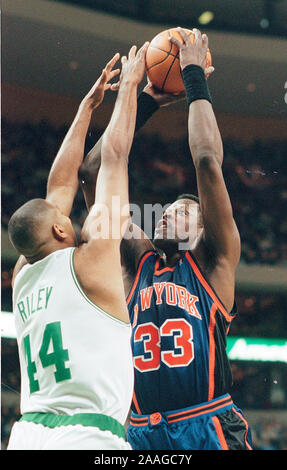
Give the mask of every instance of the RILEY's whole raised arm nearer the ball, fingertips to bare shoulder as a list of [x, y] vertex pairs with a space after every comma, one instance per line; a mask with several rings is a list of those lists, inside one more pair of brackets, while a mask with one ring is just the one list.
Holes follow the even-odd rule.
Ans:
[[102, 309], [126, 321], [120, 243], [129, 221], [128, 156], [147, 45], [137, 54], [133, 46], [128, 58], [122, 58], [117, 100], [102, 137], [94, 205], [82, 230], [82, 244], [75, 253], [75, 269], [85, 292]]

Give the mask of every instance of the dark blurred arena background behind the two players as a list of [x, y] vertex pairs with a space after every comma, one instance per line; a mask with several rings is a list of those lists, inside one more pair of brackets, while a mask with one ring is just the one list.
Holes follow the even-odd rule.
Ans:
[[[287, 450], [284, 0], [2, 2], [2, 449], [20, 413], [10, 313], [17, 256], [7, 237], [9, 217], [28, 199], [44, 196], [51, 162], [80, 99], [107, 60], [178, 25], [199, 27], [209, 36], [216, 69], [209, 87], [242, 238], [236, 277], [239, 315], [228, 339], [231, 395], [247, 416], [256, 449]], [[89, 131], [87, 150], [107, 125], [114, 101], [115, 95], [107, 93]], [[166, 204], [180, 192], [196, 192], [185, 102], [153, 116], [136, 136], [130, 162], [131, 202]], [[79, 192], [73, 211], [76, 228], [85, 217]]]

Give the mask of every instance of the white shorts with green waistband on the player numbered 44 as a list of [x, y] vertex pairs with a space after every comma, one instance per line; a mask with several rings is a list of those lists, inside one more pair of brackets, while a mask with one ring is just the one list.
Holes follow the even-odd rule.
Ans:
[[[37, 415], [40, 419], [32, 421], [29, 415]], [[77, 416], [83, 416], [83, 414], [74, 415], [73, 418]], [[27, 417], [29, 421], [25, 420]], [[94, 425], [66, 424], [69, 418], [71, 417], [48, 413], [23, 415], [22, 419], [14, 423], [12, 427], [7, 450], [131, 450], [123, 436], [116, 435], [107, 429], [102, 430]], [[55, 424], [57, 421], [58, 423]], [[43, 424], [45, 422], [46, 424]], [[121, 426], [120, 423], [117, 424]]]

